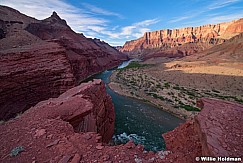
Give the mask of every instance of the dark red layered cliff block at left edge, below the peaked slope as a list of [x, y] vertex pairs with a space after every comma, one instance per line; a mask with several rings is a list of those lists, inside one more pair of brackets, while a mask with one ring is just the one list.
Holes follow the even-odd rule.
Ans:
[[0, 119], [75, 86], [65, 49], [55, 43], [2, 50], [0, 55]]

